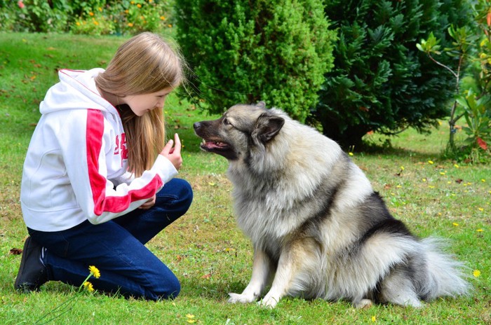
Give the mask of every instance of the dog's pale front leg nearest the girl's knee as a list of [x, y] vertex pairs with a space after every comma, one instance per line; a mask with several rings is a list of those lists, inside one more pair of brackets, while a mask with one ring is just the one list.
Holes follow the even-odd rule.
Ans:
[[271, 261], [264, 251], [254, 251], [253, 275], [241, 294], [229, 293], [229, 303], [252, 303], [261, 296], [271, 272]]

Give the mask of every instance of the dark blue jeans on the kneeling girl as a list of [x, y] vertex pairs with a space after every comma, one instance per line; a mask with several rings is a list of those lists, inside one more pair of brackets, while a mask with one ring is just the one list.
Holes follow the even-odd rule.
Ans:
[[43, 262], [50, 280], [80, 286], [88, 266], [94, 265], [100, 278], [88, 281], [98, 291], [148, 300], [175, 298], [179, 280], [144, 244], [186, 213], [192, 199], [187, 181], [172, 179], [156, 194], [150, 209], [135, 209], [99, 225], [84, 221], [62, 231], [27, 230], [46, 248]]

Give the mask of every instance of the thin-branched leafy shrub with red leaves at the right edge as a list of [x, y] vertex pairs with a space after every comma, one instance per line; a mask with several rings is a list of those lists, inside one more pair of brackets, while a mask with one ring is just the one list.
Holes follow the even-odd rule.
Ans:
[[[491, 156], [491, 4], [477, 0], [473, 5], [473, 28], [448, 28], [452, 47], [442, 48], [433, 33], [417, 48], [439, 67], [455, 77], [455, 101], [450, 112], [450, 136], [445, 152], [450, 158], [473, 163], [487, 162]], [[449, 65], [434, 56], [445, 53], [454, 59]], [[464, 69], [466, 67], [466, 69]], [[462, 78], [462, 76], [464, 76]], [[461, 80], [462, 79], [462, 80]], [[455, 144], [456, 123], [464, 117], [464, 146]]]

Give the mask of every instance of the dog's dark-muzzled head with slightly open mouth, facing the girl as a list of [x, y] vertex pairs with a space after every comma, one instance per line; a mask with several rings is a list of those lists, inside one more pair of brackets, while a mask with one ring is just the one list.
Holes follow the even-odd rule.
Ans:
[[264, 148], [280, 132], [285, 120], [256, 105], [234, 105], [217, 120], [194, 123], [194, 132], [203, 138], [204, 151], [218, 153], [228, 160], [238, 160], [255, 148]]

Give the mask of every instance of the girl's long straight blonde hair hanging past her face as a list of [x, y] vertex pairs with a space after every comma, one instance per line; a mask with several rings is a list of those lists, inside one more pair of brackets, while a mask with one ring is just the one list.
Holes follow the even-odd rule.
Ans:
[[[174, 43], [144, 32], [119, 47], [95, 84], [118, 97], [149, 94], [180, 85], [183, 67], [184, 60]], [[163, 109], [136, 116], [128, 105], [117, 108], [126, 133], [128, 170], [139, 177], [152, 167], [165, 144]]]

